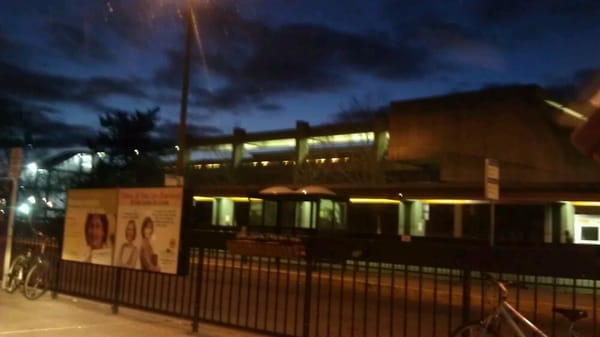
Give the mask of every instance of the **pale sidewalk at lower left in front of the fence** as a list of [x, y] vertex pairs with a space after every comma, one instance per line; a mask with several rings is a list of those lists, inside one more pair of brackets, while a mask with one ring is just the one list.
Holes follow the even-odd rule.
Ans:
[[191, 321], [67, 295], [52, 299], [45, 294], [30, 301], [20, 293], [0, 289], [0, 337], [260, 337], [262, 335], [200, 323], [192, 333]]

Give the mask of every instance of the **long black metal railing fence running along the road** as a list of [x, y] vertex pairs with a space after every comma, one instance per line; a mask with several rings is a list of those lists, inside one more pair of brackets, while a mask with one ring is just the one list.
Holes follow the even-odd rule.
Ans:
[[[184, 275], [57, 259], [54, 290], [119, 306], [276, 336], [448, 336], [495, 303], [480, 271], [518, 281], [510, 302], [549, 335], [568, 321], [553, 307], [589, 317], [582, 336], [599, 334], [600, 250], [591, 246], [487, 247], [398, 238], [312, 238], [299, 258], [227, 250], [230, 233], [201, 233]], [[16, 242], [15, 253], [25, 244]], [[257, 253], [257, 255], [260, 255]]]

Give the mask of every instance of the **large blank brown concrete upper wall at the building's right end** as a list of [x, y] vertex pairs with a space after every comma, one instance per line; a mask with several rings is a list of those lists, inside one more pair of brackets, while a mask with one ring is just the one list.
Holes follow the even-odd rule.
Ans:
[[442, 181], [481, 181], [485, 158], [500, 161], [504, 182], [599, 181], [555, 113], [535, 87], [395, 102], [388, 160], [436, 163]]

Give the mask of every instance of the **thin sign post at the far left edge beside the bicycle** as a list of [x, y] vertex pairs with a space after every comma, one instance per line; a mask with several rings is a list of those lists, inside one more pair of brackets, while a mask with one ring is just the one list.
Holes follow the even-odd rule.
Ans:
[[10, 149], [10, 161], [8, 168], [8, 177], [10, 178], [10, 202], [8, 208], [8, 228], [6, 229], [6, 248], [4, 251], [4, 270], [2, 273], [3, 287], [8, 282], [8, 275], [11, 262], [12, 240], [15, 225], [15, 210], [17, 209], [17, 183], [21, 175], [21, 161], [23, 158], [23, 149], [14, 147]]

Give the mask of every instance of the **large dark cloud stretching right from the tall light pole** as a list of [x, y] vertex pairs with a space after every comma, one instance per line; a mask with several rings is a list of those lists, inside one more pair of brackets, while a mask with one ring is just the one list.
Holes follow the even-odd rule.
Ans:
[[[190, 103], [207, 109], [261, 108], [275, 95], [323, 92], [345, 88], [352, 75], [362, 73], [388, 80], [415, 79], [433, 68], [430, 55], [406, 41], [387, 36], [347, 33], [324, 25], [285, 24], [269, 27], [242, 18], [236, 11], [215, 5], [199, 6], [198, 31], [205, 43], [207, 69], [194, 46], [192, 81], [208, 78], [224, 83], [197, 89]], [[181, 51], [168, 50], [167, 63], [153, 82], [181, 87]]]

